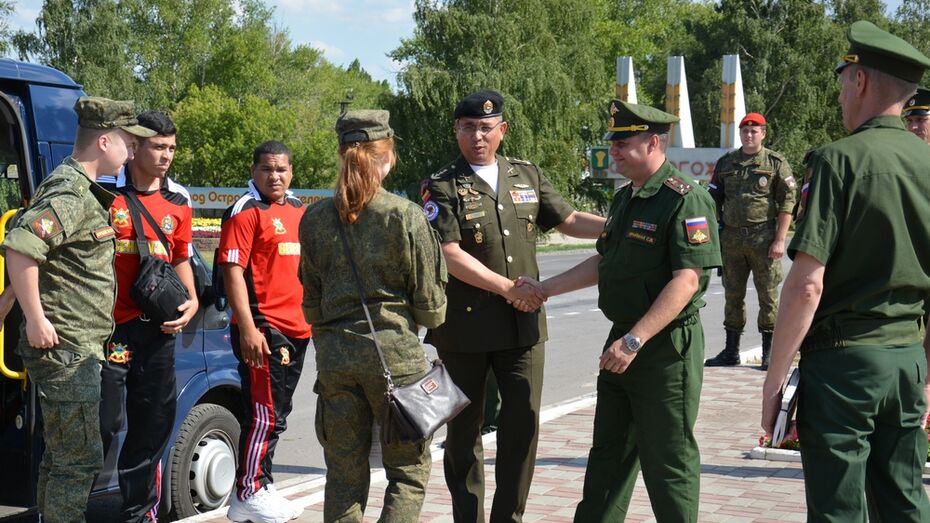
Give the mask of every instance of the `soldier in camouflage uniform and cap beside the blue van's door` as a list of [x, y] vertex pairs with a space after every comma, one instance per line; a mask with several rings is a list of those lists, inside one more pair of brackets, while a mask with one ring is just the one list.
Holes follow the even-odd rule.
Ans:
[[[132, 158], [132, 102], [82, 97], [74, 151], [39, 185], [2, 245], [23, 309], [17, 352], [38, 389], [45, 453], [37, 501], [43, 521], [84, 521], [94, 476], [103, 465], [100, 362], [113, 331], [116, 281], [113, 194], [97, 185]], [[41, 290], [41, 292], [40, 292]]]

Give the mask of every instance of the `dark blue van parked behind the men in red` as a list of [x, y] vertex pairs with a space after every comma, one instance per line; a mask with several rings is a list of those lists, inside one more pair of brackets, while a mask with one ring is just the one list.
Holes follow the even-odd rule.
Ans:
[[[39, 182], [71, 154], [81, 86], [40, 65], [0, 59], [0, 240], [6, 223], [27, 206]], [[232, 491], [241, 418], [236, 359], [229, 344], [229, 310], [217, 307], [210, 267], [192, 260], [200, 311], [178, 336], [178, 409], [162, 457], [160, 514], [172, 519], [224, 505]], [[8, 284], [0, 258], [0, 289]], [[0, 331], [0, 521], [36, 521], [35, 484], [42, 449], [36, 390], [14, 354], [22, 314]], [[122, 435], [120, 436], [122, 438]], [[122, 439], [120, 439], [120, 444]], [[93, 495], [118, 491], [117, 445], [105, 458]]]

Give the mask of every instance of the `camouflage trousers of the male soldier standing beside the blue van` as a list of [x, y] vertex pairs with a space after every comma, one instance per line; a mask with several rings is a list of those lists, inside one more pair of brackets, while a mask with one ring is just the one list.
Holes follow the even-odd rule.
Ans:
[[94, 476], [103, 467], [100, 361], [63, 343], [19, 352], [42, 409], [45, 453], [36, 487], [42, 521], [82, 523]]

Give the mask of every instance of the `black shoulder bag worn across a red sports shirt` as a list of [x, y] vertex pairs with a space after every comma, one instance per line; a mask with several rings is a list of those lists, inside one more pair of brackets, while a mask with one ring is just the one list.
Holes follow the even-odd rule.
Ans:
[[128, 187], [123, 195], [129, 206], [132, 227], [136, 230], [136, 246], [139, 248], [139, 274], [129, 288], [129, 296], [150, 320], [159, 324], [176, 320], [181, 317], [178, 307], [190, 298], [187, 287], [174, 270], [174, 266], [161, 258], [152, 256], [149, 252], [140, 214], [145, 216], [149, 225], [155, 230], [155, 234], [164, 244], [165, 252], [169, 256], [171, 244], [168, 243], [168, 239], [155, 218], [152, 218], [152, 215], [139, 201], [135, 189]]

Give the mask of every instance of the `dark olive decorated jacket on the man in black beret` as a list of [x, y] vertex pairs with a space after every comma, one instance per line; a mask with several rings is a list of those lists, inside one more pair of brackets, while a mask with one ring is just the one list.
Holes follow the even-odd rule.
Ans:
[[[539, 278], [536, 237], [573, 212], [536, 165], [497, 156], [495, 192], [461, 156], [430, 176], [423, 208], [443, 242], [511, 280]], [[451, 352], [486, 352], [546, 341], [546, 313], [520, 312], [502, 296], [450, 276], [449, 316], [427, 342]]]

